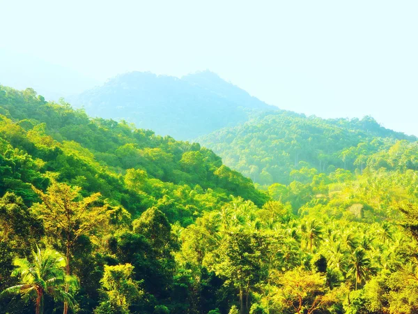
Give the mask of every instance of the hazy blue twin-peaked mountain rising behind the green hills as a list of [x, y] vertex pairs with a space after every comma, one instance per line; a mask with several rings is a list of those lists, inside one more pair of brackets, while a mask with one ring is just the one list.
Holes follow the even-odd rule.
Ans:
[[210, 71], [181, 79], [126, 73], [67, 100], [93, 117], [125, 119], [178, 140], [235, 126], [247, 121], [251, 112], [277, 109]]

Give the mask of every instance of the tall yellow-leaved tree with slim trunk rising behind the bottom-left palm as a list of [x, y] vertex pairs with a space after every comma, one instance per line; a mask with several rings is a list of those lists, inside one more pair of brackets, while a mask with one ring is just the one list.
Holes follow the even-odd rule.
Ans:
[[[34, 204], [33, 211], [43, 220], [45, 230], [65, 250], [65, 272], [70, 276], [72, 247], [82, 235], [88, 235], [107, 220], [107, 208], [98, 205], [100, 193], [81, 197], [81, 188], [68, 186], [52, 180], [47, 193], [33, 187], [42, 204]], [[68, 292], [68, 285], [65, 289]], [[68, 304], [64, 304], [64, 314]]]

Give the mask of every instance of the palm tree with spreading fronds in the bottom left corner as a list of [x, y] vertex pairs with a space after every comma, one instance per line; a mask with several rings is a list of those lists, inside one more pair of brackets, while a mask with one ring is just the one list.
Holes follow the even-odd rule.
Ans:
[[8, 287], [2, 293], [21, 293], [36, 297], [36, 314], [43, 313], [44, 294], [50, 294], [54, 299], [66, 301], [73, 306], [74, 300], [65, 292], [65, 284], [74, 287], [77, 280], [65, 275], [65, 257], [50, 248], [44, 251], [37, 248], [32, 255], [33, 262], [26, 258], [15, 259], [16, 269], [12, 276], [20, 276], [21, 284]]

